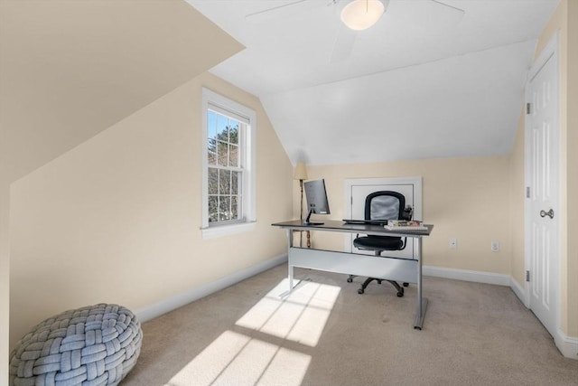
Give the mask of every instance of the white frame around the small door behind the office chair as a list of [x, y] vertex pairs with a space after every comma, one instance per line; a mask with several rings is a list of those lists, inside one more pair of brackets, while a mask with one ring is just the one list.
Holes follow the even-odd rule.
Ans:
[[[345, 218], [351, 218], [351, 189], [355, 185], [402, 185], [402, 184], [413, 184], [414, 185], [414, 220], [424, 220], [424, 202], [422, 201], [422, 180], [421, 176], [412, 177], [374, 177], [374, 178], [347, 178], [345, 179], [345, 193], [343, 194], [345, 202]], [[345, 238], [345, 249], [351, 252], [352, 235], [348, 234]], [[415, 242], [414, 250], [416, 248], [417, 239], [413, 239]], [[414, 252], [415, 253], [415, 252]]]

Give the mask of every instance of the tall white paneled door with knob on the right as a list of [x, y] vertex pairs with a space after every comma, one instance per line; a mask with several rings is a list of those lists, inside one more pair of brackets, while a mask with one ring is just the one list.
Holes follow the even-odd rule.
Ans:
[[527, 245], [529, 306], [555, 336], [558, 318], [558, 70], [555, 51], [546, 52], [527, 85]]

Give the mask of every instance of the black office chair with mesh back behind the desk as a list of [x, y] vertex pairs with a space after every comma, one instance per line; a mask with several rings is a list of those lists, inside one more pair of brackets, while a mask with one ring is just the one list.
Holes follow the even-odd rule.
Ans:
[[[365, 199], [365, 220], [411, 220], [413, 210], [411, 206], [406, 207], [406, 197], [403, 194], [391, 191], [379, 191], [368, 194]], [[391, 236], [358, 236], [353, 240], [353, 245], [358, 249], [373, 250], [376, 256], [381, 256], [384, 250], [402, 250], [406, 248], [406, 238]], [[351, 282], [351, 276], [348, 281]], [[365, 292], [365, 288], [373, 280], [381, 284], [380, 278], [367, 278], [358, 290], [359, 294]], [[404, 296], [404, 287], [408, 283], [403, 283], [401, 287], [394, 280], [386, 280], [397, 289], [397, 297]]]

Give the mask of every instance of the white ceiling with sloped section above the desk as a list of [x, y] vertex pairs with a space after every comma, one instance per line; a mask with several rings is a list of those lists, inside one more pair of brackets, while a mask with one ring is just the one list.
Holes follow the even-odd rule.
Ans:
[[211, 71], [256, 94], [292, 162], [309, 165], [509, 154], [558, 4], [390, 0], [352, 33], [349, 0], [187, 1], [247, 46]]

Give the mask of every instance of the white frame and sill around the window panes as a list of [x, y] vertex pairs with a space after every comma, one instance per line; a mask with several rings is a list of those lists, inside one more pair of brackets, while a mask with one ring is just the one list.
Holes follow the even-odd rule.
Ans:
[[[203, 239], [225, 236], [256, 229], [256, 112], [231, 99], [223, 97], [210, 89], [202, 88], [202, 223], [200, 230]], [[224, 110], [231, 113], [232, 117], [238, 116], [246, 123], [243, 138], [239, 146], [242, 150], [243, 181], [241, 184], [242, 220], [224, 223], [209, 222], [209, 141], [207, 121], [209, 108]]]

